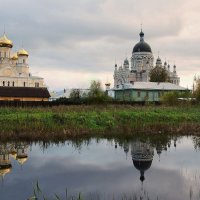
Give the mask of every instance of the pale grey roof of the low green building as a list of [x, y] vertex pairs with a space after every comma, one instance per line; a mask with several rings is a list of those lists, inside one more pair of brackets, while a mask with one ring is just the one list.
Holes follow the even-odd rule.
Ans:
[[157, 83], [157, 82], [134, 82], [133, 84], [125, 84], [124, 87], [113, 88], [114, 90], [122, 89], [135, 89], [135, 90], [174, 90], [174, 91], [186, 91], [188, 88], [181, 87], [172, 83]]

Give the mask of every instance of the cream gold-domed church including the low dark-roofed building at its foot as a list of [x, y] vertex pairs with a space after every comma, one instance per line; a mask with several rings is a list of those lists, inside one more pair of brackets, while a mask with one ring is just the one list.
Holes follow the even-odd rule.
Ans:
[[13, 53], [12, 48], [5, 34], [0, 37], [0, 100], [47, 101], [44, 79], [30, 73], [28, 52], [22, 48]]

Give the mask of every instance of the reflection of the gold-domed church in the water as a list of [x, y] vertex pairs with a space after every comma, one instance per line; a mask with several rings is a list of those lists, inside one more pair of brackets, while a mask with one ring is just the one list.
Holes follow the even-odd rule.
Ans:
[[11, 158], [23, 165], [28, 159], [29, 145], [26, 142], [0, 143], [0, 177], [11, 172]]

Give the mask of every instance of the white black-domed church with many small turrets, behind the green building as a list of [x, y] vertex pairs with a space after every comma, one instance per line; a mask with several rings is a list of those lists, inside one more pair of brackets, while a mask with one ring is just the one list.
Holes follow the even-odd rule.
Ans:
[[[140, 32], [140, 41], [134, 46], [132, 56], [129, 60], [124, 60], [123, 66], [118, 67], [115, 64], [114, 69], [114, 87], [118, 88], [121, 85], [134, 82], [149, 82], [150, 70], [154, 68], [154, 56], [150, 45], [144, 41], [144, 33]], [[167, 62], [162, 65], [161, 59], [158, 57], [155, 66], [161, 66], [166, 69], [169, 75], [169, 81], [179, 85], [180, 78], [176, 72], [176, 66], [173, 66], [171, 71], [170, 65]]]

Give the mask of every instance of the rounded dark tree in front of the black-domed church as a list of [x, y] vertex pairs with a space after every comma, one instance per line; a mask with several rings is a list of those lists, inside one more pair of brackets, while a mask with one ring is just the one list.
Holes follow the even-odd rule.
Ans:
[[151, 82], [168, 82], [169, 81], [169, 75], [166, 69], [163, 67], [154, 67], [151, 69], [150, 73], [150, 81]]

